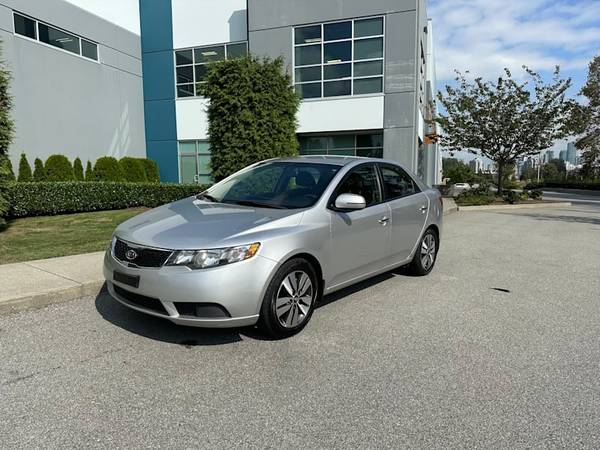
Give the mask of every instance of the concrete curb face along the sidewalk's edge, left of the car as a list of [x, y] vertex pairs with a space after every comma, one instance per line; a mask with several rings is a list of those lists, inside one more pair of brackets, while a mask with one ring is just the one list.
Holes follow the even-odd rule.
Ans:
[[39, 309], [44, 306], [66, 303], [81, 297], [98, 295], [104, 286], [104, 280], [83, 283], [79, 286], [53, 289], [40, 294], [16, 297], [0, 302], [0, 315], [12, 314], [29, 309]]

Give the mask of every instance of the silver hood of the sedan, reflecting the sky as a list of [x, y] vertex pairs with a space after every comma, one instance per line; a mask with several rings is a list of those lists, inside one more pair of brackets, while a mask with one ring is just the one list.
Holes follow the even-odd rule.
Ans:
[[218, 248], [249, 244], [246, 236], [250, 239], [266, 228], [293, 226], [300, 218], [298, 210], [250, 208], [190, 197], [129, 219], [117, 228], [116, 235], [150, 247]]

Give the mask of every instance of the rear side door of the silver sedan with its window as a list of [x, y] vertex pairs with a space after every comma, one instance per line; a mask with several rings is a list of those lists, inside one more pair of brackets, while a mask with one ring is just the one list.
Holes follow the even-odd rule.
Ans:
[[380, 163], [379, 168], [384, 200], [392, 213], [391, 258], [402, 262], [409, 258], [423, 232], [429, 199], [402, 167]]

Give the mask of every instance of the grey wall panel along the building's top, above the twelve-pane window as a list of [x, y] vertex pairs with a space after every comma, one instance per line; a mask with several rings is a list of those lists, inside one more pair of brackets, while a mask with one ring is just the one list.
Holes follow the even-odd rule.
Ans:
[[249, 31], [416, 9], [416, 0], [249, 0]]

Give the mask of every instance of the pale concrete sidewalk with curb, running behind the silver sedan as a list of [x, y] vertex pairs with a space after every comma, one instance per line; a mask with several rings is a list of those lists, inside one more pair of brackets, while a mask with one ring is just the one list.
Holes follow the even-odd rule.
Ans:
[[[458, 211], [444, 199], [444, 215]], [[0, 265], [0, 314], [96, 295], [104, 285], [104, 252]]]

